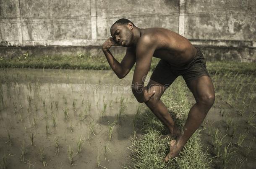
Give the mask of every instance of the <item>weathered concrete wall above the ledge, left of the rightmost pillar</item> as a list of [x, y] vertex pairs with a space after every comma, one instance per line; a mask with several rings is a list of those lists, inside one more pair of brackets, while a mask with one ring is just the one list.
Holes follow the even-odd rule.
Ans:
[[101, 45], [119, 18], [178, 31], [178, 7], [178, 0], [0, 0], [0, 45]]

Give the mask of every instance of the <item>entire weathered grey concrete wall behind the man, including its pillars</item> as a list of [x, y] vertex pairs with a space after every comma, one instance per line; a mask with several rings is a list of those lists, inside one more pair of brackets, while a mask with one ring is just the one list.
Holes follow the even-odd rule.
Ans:
[[98, 50], [112, 23], [128, 18], [180, 33], [209, 60], [256, 61], [255, 16], [255, 0], [0, 0], [0, 55], [8, 47], [15, 55], [39, 46]]

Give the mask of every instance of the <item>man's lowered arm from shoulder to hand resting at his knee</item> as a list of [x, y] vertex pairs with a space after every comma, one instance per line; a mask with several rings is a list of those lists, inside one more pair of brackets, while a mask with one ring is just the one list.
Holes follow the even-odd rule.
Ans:
[[136, 46], [136, 66], [133, 73], [132, 91], [137, 101], [144, 103], [154, 95], [144, 88], [144, 80], [152, 62], [156, 49], [155, 43], [149, 37], [141, 37]]

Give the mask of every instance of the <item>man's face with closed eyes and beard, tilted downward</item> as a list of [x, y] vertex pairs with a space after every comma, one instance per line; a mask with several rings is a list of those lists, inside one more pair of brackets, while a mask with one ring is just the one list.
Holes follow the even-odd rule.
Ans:
[[132, 45], [131, 43], [133, 39], [132, 28], [133, 26], [131, 23], [128, 23], [128, 25], [115, 24], [110, 29], [110, 34], [121, 46], [129, 47]]

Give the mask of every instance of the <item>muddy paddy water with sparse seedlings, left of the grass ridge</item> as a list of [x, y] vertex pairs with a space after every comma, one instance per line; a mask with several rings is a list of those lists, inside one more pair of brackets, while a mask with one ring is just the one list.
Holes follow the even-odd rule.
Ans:
[[[113, 71], [2, 69], [0, 156], [8, 154], [7, 166], [10, 169], [44, 168], [39, 153], [44, 147], [44, 159], [49, 169], [93, 169], [98, 168], [98, 161], [109, 169], [122, 168], [129, 162], [127, 147], [130, 146], [132, 119], [138, 105], [131, 92], [131, 80], [132, 73], [119, 79]], [[117, 118], [120, 101], [127, 107]], [[104, 104], [107, 107], [102, 113]], [[80, 116], [86, 108], [88, 113]], [[63, 111], [66, 109], [68, 120]], [[56, 126], [53, 126], [53, 117], [56, 117]], [[89, 129], [93, 121], [95, 136]], [[105, 154], [108, 124], [114, 121], [118, 124], [113, 129], [113, 138]], [[34, 146], [31, 146], [31, 133], [34, 133]], [[77, 153], [80, 136], [85, 138], [85, 143], [81, 153]], [[59, 140], [59, 155], [55, 155], [56, 138]], [[20, 148], [23, 141], [27, 153], [22, 162]], [[68, 160], [69, 146], [74, 150], [73, 166]]]

